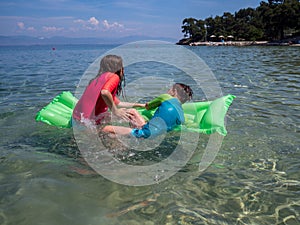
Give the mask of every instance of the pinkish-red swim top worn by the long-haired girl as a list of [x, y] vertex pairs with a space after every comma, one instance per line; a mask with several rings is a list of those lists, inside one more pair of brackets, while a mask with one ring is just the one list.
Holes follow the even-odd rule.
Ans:
[[116, 105], [120, 100], [116, 97], [120, 78], [117, 74], [106, 72], [91, 81], [86, 87], [73, 111], [73, 118], [80, 121], [82, 118], [94, 120], [96, 124], [101, 121], [101, 114], [107, 112], [108, 106], [104, 102], [101, 91], [108, 90]]

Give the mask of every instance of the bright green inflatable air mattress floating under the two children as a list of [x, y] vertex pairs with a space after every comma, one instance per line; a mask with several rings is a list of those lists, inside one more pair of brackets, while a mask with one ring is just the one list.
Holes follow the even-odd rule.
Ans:
[[[234, 98], [234, 95], [226, 95], [213, 101], [183, 104], [185, 124], [175, 128], [175, 130], [204, 134], [218, 132], [225, 136], [227, 134], [225, 116]], [[36, 121], [42, 121], [56, 127], [71, 128], [72, 113], [77, 101], [71, 92], [64, 91], [37, 113]], [[155, 109], [139, 108], [138, 111], [146, 120], [149, 120]]]

